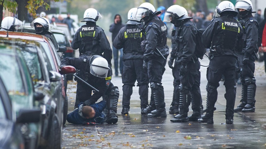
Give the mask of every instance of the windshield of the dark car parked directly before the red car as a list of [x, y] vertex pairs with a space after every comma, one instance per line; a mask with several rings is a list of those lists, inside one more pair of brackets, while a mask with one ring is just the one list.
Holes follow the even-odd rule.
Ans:
[[23, 46], [20, 50], [26, 61], [34, 84], [36, 84], [38, 81], [43, 81], [44, 79], [42, 76], [41, 64], [39, 62], [37, 49], [34, 46]]

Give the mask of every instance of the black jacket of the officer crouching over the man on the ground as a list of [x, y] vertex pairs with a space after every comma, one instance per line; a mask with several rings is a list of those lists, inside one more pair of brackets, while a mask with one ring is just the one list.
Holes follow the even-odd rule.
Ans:
[[[67, 57], [62, 60], [61, 65], [70, 65], [74, 66], [76, 69], [79, 69], [79, 77], [83, 80], [86, 80], [87, 83], [99, 90], [99, 92], [94, 93], [90, 99], [92, 102], [96, 102], [109, 88], [109, 84], [111, 83], [112, 69], [109, 69], [107, 78], [96, 77], [90, 73], [90, 59], [91, 57], [86, 55], [82, 55], [79, 58]], [[81, 81], [78, 82], [82, 83]]]

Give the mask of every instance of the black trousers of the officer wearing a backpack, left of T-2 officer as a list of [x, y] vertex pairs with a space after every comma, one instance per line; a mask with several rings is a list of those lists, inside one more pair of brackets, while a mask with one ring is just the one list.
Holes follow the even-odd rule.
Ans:
[[187, 73], [184, 76], [180, 76], [180, 112], [179, 114], [187, 113], [188, 106], [192, 104], [193, 112], [200, 113], [202, 98], [200, 94], [200, 63], [196, 61], [189, 62], [187, 64]]

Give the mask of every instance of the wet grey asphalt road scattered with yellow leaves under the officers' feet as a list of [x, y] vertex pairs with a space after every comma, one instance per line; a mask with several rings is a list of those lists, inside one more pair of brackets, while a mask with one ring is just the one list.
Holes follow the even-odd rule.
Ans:
[[[208, 58], [200, 60], [208, 65]], [[225, 124], [225, 87], [218, 87], [217, 110], [214, 112], [214, 124], [198, 122], [172, 123], [167, 118], [147, 118], [140, 115], [138, 87], [133, 87], [129, 115], [122, 111], [122, 79], [113, 77], [112, 82], [119, 87], [118, 123], [98, 126], [82, 126], [66, 123], [63, 127], [62, 148], [266, 148], [266, 74], [264, 62], [255, 62], [257, 80], [256, 111], [238, 112], [234, 115], [234, 124]], [[201, 93], [204, 109], [206, 107], [206, 67], [201, 67]], [[168, 112], [173, 95], [173, 76], [166, 66], [162, 80], [165, 91], [166, 111]], [[237, 85], [236, 104], [241, 99], [241, 85]], [[69, 113], [74, 110], [75, 82], [68, 83], [67, 95]], [[150, 92], [149, 92], [150, 95]], [[99, 99], [100, 101], [101, 99]], [[190, 112], [191, 114], [191, 106]]]

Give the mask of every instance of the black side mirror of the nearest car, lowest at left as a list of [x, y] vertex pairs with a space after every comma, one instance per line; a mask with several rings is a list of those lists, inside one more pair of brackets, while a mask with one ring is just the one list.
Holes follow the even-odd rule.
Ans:
[[37, 123], [40, 121], [40, 109], [20, 109], [16, 123]]

